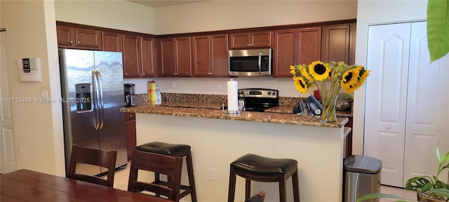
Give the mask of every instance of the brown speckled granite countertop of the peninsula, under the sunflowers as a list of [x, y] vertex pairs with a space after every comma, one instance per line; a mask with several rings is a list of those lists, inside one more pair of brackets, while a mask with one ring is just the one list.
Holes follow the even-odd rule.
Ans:
[[349, 120], [347, 117], [337, 117], [336, 122], [321, 123], [319, 121], [319, 116], [310, 116], [307, 114], [297, 115], [273, 112], [241, 112], [241, 114], [225, 114], [222, 112], [221, 107], [222, 104], [211, 102], [163, 102], [162, 105], [149, 105], [148, 103], [143, 102], [138, 103], [138, 107], [122, 108], [120, 111], [330, 128], [342, 128]]

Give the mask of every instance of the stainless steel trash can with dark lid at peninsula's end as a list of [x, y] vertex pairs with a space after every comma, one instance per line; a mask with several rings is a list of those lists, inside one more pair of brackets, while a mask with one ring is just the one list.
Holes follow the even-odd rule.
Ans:
[[[344, 159], [344, 202], [380, 192], [382, 161], [370, 156], [354, 155]], [[371, 202], [379, 201], [373, 199]]]

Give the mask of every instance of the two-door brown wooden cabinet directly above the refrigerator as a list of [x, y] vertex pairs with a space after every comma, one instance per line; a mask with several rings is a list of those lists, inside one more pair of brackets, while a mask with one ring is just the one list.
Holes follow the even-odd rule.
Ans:
[[101, 31], [62, 25], [57, 25], [56, 31], [59, 47], [89, 50], [101, 50], [102, 48]]

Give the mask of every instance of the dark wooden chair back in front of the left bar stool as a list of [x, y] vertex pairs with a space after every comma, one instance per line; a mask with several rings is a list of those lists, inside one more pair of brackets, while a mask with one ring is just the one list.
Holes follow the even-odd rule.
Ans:
[[[163, 195], [172, 201], [180, 200], [182, 158], [141, 152], [133, 150], [131, 156], [130, 174], [128, 180], [128, 191], [140, 192], [150, 191], [156, 196]], [[154, 173], [167, 175], [168, 186], [152, 182], [138, 181], [138, 171], [147, 170]]]

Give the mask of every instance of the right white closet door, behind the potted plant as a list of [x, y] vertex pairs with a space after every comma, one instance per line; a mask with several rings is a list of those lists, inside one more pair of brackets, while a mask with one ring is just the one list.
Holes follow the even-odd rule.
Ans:
[[[404, 184], [411, 177], [436, 174], [438, 142], [442, 154], [449, 151], [449, 57], [430, 63], [427, 23], [413, 22], [411, 30]], [[443, 172], [441, 180], [447, 176]]]

